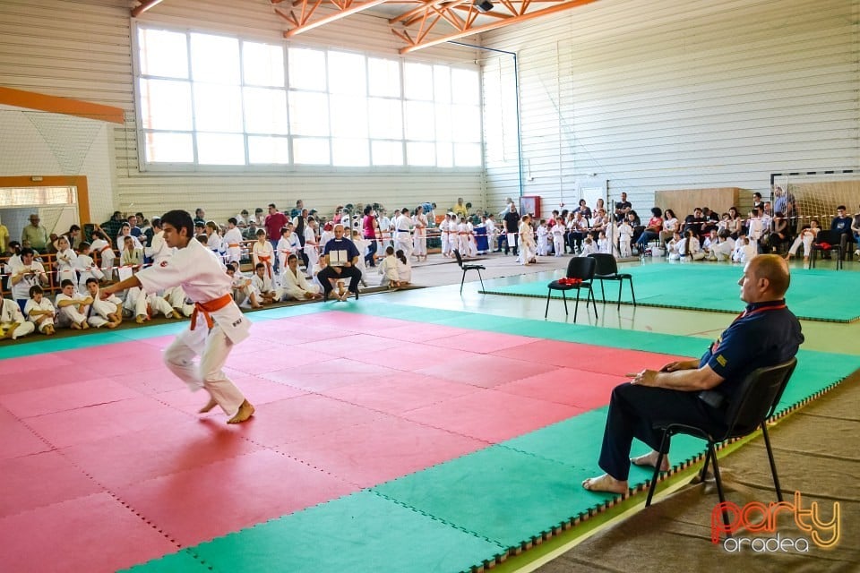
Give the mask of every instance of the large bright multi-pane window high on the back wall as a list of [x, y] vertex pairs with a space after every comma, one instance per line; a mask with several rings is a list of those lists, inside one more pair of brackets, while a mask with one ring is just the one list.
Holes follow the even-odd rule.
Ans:
[[480, 167], [474, 67], [137, 29], [144, 167]]

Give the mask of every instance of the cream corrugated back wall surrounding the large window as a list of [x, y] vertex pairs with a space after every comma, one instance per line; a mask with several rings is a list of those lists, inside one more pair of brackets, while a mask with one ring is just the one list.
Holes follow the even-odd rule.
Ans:
[[[483, 204], [480, 170], [404, 169], [400, 171], [297, 169], [257, 173], [141, 173], [134, 114], [130, 5], [127, 0], [0, 0], [0, 85], [125, 109], [125, 126], [110, 128], [113, 202], [99, 205], [100, 216], [114, 208], [144, 210], [202, 206], [226, 218], [242, 208], [297, 199], [321, 210], [338, 203], [378, 201], [390, 209], [435, 201], [450, 207], [462, 196]], [[140, 21], [165, 27], [235, 34], [290, 45], [344, 47], [398, 57], [400, 40], [383, 18], [357, 15], [291, 40], [286, 22], [268, 0], [183, 0], [164, 2]], [[406, 59], [473, 63], [475, 52], [442, 46]], [[46, 174], [47, 175], [47, 174]], [[86, 174], [82, 174], [86, 175]]]

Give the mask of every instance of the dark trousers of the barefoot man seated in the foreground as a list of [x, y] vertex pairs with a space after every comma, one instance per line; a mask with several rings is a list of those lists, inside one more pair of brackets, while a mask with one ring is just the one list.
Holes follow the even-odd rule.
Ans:
[[698, 392], [619, 384], [609, 400], [598, 465], [616, 480], [626, 481], [633, 438], [658, 450], [663, 432], [654, 426], [669, 423], [694, 425], [706, 432], [726, 430], [722, 412], [702, 402]]

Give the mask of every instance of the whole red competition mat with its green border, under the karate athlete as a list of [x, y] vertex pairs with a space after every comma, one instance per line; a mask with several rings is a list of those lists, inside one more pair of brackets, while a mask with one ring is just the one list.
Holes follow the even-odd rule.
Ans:
[[[677, 357], [661, 349], [707, 345], [369, 301], [254, 316], [228, 360], [257, 406], [238, 426], [196, 414], [204, 398], [160, 362], [180, 326], [15, 346], [0, 362], [4, 568], [480, 567], [614, 503], [579, 485], [599, 471], [610, 389]], [[802, 351], [781, 407], [858, 367]], [[673, 463], [701, 449], [678, 438]], [[632, 468], [632, 484], [649, 477]]]

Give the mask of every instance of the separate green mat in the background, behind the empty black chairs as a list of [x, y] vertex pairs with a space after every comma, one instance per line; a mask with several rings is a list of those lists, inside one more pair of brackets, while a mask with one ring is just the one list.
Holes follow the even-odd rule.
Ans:
[[[740, 266], [708, 263], [654, 263], [625, 267], [621, 272], [633, 277], [636, 304], [716, 312], [742, 312], [737, 280]], [[561, 272], [559, 273], [561, 277]], [[487, 295], [515, 295], [546, 298], [548, 281], [540, 280], [509, 286], [490, 286], [481, 291]], [[860, 274], [827, 269], [792, 269], [788, 307], [797, 318], [807, 321], [854, 322], [860, 320], [860, 297], [855, 295]], [[618, 299], [618, 282], [607, 281], [606, 303]], [[594, 282], [594, 294], [600, 300], [600, 281]], [[555, 291], [553, 297], [561, 298]], [[568, 295], [570, 297], [570, 295]], [[630, 283], [624, 281], [621, 302], [632, 304]]]

